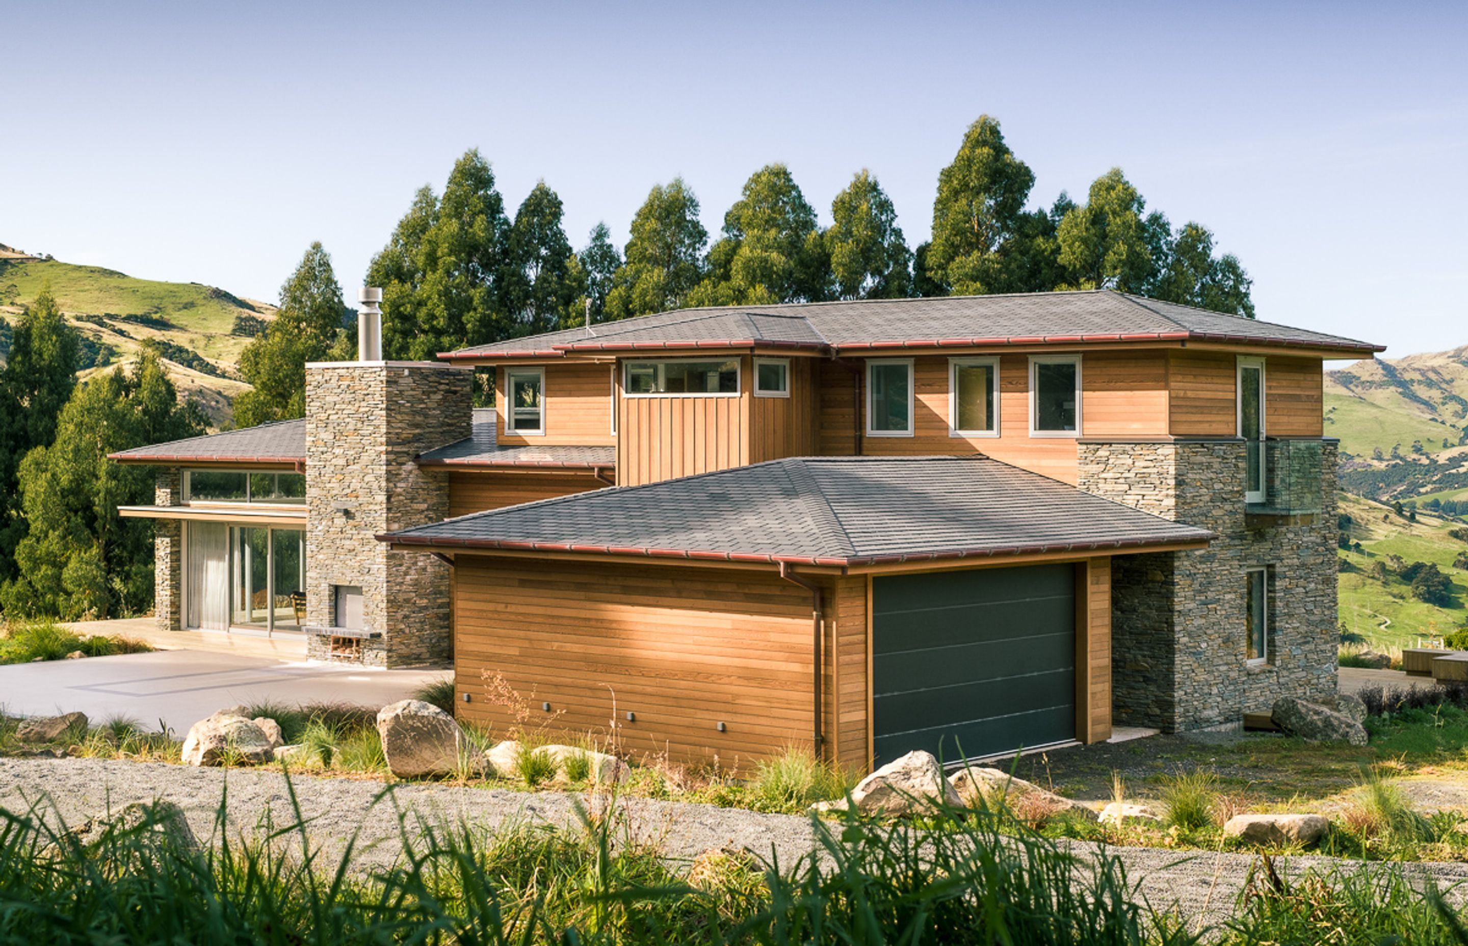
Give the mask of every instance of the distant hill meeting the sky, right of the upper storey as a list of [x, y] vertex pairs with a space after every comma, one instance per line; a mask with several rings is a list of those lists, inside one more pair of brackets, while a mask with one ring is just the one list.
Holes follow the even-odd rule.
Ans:
[[1376, 499], [1468, 492], [1468, 347], [1326, 373], [1326, 433], [1342, 486]]

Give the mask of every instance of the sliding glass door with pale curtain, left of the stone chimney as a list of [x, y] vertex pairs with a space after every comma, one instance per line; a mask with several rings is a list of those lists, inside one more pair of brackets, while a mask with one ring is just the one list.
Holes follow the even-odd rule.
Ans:
[[185, 627], [301, 630], [305, 532], [188, 523]]

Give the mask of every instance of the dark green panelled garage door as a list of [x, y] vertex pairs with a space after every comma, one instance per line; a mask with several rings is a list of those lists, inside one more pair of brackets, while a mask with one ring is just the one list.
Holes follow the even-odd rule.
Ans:
[[879, 765], [913, 749], [953, 762], [1076, 736], [1073, 566], [875, 579], [872, 638]]

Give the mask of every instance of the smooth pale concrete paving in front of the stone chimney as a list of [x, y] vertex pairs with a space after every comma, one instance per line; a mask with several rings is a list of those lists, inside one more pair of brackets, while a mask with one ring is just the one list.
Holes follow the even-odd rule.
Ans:
[[225, 707], [346, 702], [383, 707], [407, 699], [446, 670], [374, 670], [204, 651], [154, 651], [0, 667], [0, 712], [53, 715], [79, 710], [92, 723], [131, 717], [182, 736]]

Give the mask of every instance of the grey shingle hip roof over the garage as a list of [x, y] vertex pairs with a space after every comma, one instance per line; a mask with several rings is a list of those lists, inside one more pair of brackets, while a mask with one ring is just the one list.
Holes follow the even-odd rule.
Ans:
[[476, 513], [399, 545], [876, 564], [1207, 542], [988, 457], [807, 457]]

